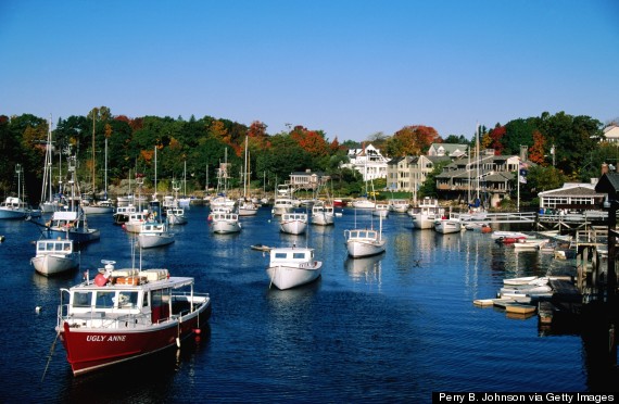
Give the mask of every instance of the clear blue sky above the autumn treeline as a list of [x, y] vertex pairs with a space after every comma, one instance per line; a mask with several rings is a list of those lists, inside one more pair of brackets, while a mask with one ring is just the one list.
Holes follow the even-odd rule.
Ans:
[[619, 117], [619, 1], [0, 1], [0, 114], [223, 117], [329, 140]]

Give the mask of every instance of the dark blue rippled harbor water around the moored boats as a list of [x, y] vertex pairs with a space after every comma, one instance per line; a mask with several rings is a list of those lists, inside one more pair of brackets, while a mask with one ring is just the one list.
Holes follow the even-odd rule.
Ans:
[[[558, 265], [551, 254], [516, 253], [479, 232], [413, 230], [407, 215], [392, 214], [387, 252], [350, 260], [343, 230], [369, 226], [368, 213], [346, 210], [305, 236], [280, 233], [267, 207], [242, 217], [232, 236], [211, 233], [206, 216], [207, 207], [192, 206], [189, 223], [174, 228], [176, 242], [143, 251], [141, 262], [195, 277], [213, 299], [210, 329], [178, 351], [77, 378], [61, 343], [52, 350], [59, 289], [86, 269], [93, 276], [101, 260], [130, 266], [130, 239], [111, 216], [92, 215], [101, 240], [83, 250], [80, 270], [46, 278], [29, 264], [37, 227], [0, 222], [0, 400], [430, 402], [434, 391], [590, 389], [580, 336], [472, 304], [494, 296], [506, 277], [545, 275]], [[315, 248], [323, 277], [269, 290], [268, 257], [250, 249], [256, 243]]]

